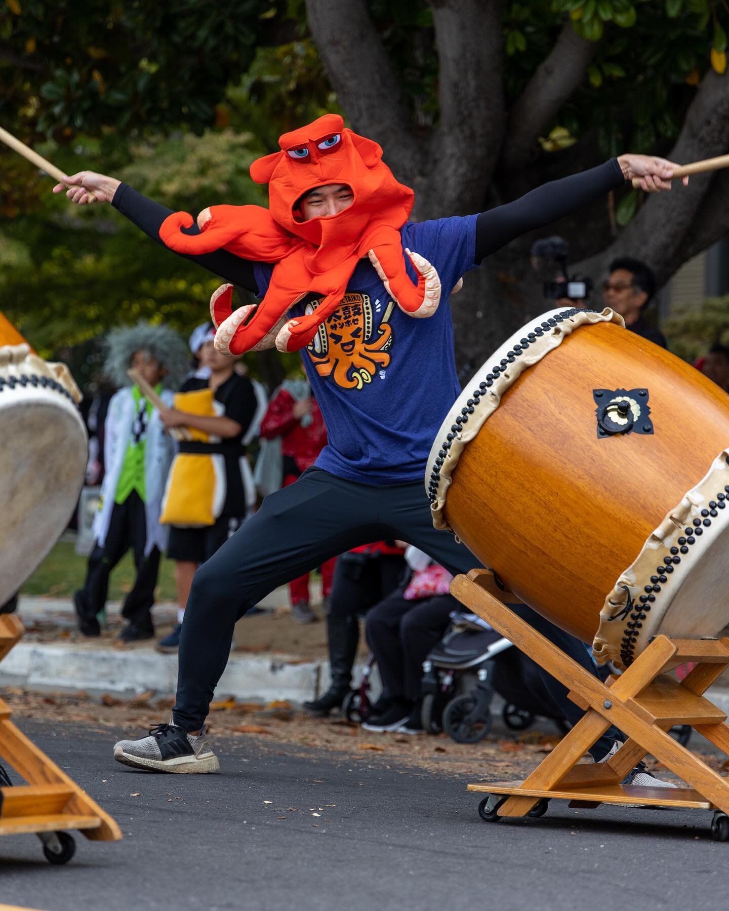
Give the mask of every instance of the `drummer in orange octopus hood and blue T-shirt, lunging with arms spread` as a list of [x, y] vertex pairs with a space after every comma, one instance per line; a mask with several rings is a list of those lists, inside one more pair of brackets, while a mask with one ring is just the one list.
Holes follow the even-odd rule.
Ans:
[[[336, 554], [390, 538], [425, 551], [452, 574], [477, 566], [455, 537], [433, 527], [423, 486], [430, 446], [460, 392], [448, 290], [520, 234], [626, 179], [641, 179], [648, 191], [670, 189], [675, 167], [622, 155], [497, 209], [414, 223], [407, 220], [412, 191], [395, 180], [379, 146], [344, 129], [341, 118], [319, 118], [280, 142], [280, 151], [251, 169], [253, 179], [269, 184], [270, 210], [212, 206], [198, 224], [117, 179], [82, 171], [68, 180], [69, 199], [83, 205], [90, 191], [95, 200], [110, 201], [149, 237], [225, 279], [210, 302], [220, 350], [301, 349], [329, 438], [315, 464], [267, 496], [198, 569], [180, 636], [171, 723], [114, 747], [118, 762], [136, 768], [218, 769], [205, 719], [233, 627], [277, 586]], [[232, 310], [233, 284], [262, 302]], [[594, 672], [581, 642], [526, 605], [516, 610]], [[544, 677], [564, 717], [579, 721], [582, 712], [565, 688]], [[416, 709], [395, 698], [374, 723], [383, 731], [412, 725]], [[620, 739], [611, 730], [590, 752], [600, 760]], [[661, 784], [641, 768], [629, 778]]]

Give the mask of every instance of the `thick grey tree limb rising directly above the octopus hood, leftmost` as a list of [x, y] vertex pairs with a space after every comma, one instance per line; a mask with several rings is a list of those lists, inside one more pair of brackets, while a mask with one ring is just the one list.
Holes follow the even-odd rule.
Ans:
[[385, 148], [398, 179], [412, 180], [425, 149], [364, 0], [306, 0], [314, 43], [354, 128]]

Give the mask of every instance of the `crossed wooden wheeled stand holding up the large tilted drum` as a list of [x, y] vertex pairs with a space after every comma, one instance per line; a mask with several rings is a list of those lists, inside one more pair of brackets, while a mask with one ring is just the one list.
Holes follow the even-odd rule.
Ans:
[[[726, 712], [702, 695], [729, 665], [729, 639], [657, 636], [620, 677], [602, 683], [509, 610], [506, 603], [519, 599], [499, 590], [487, 569], [457, 576], [451, 593], [563, 683], [570, 699], [585, 710], [580, 722], [524, 782], [468, 785], [469, 791], [489, 795], [478, 807], [484, 820], [541, 816], [552, 799], [589, 809], [600, 804], [691, 807], [714, 811], [714, 839], [729, 840], [729, 781], [668, 733], [674, 724], [690, 724], [729, 754]], [[696, 665], [683, 681], [665, 673], [683, 661]], [[630, 739], [606, 763], [578, 764], [611, 724]], [[648, 752], [690, 787], [668, 790], [622, 785], [622, 779]]]

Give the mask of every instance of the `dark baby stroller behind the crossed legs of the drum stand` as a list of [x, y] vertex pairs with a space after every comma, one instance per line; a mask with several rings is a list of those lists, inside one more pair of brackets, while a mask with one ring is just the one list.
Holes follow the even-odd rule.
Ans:
[[477, 743], [491, 730], [494, 692], [512, 731], [524, 731], [537, 716], [566, 733], [539, 676], [537, 665], [476, 614], [454, 610], [446, 635], [423, 662], [423, 727], [458, 743]]

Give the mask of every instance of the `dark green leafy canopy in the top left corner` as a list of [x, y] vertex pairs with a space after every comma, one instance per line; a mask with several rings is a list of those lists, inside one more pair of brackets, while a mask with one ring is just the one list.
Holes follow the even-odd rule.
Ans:
[[101, 128], [215, 122], [225, 86], [251, 65], [279, 18], [269, 0], [13, 0], [0, 40], [5, 66], [0, 118], [8, 112], [56, 139]]

